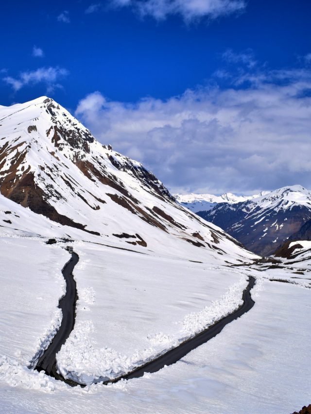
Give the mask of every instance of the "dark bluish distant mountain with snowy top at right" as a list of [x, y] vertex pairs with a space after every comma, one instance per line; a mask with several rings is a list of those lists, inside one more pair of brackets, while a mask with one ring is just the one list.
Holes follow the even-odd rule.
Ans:
[[301, 185], [282, 187], [244, 202], [222, 203], [198, 215], [246, 248], [269, 255], [311, 219], [311, 192]]

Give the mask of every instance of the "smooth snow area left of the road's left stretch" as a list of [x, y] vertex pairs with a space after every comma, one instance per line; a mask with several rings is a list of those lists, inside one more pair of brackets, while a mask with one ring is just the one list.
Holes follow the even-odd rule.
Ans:
[[0, 355], [28, 366], [60, 325], [69, 254], [39, 239], [1, 237], [0, 257]]

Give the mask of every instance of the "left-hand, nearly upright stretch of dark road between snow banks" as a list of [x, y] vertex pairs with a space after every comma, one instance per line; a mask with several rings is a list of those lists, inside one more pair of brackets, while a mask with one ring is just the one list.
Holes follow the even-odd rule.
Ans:
[[[64, 380], [56, 372], [56, 354], [65, 344], [70, 332], [73, 330], [75, 322], [75, 310], [77, 301], [77, 287], [73, 279], [72, 271], [74, 266], [78, 263], [79, 256], [76, 253], [71, 254], [71, 259], [64, 266], [62, 273], [66, 281], [66, 294], [59, 300], [58, 307], [62, 310], [63, 319], [59, 330], [52, 339], [49, 347], [44, 351], [39, 358], [35, 369], [37, 371], [45, 371], [46, 374]], [[66, 381], [67, 382], [67, 381]]]

